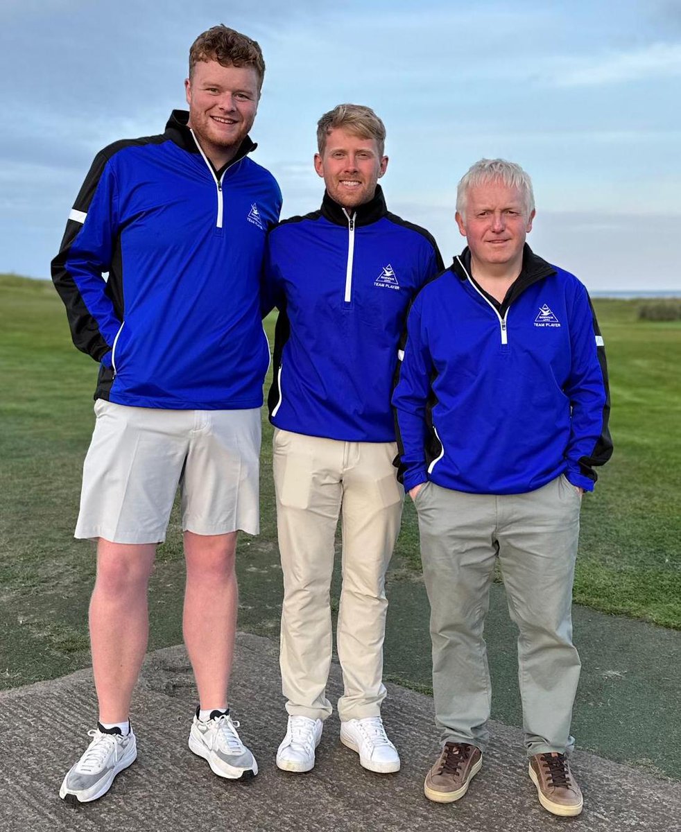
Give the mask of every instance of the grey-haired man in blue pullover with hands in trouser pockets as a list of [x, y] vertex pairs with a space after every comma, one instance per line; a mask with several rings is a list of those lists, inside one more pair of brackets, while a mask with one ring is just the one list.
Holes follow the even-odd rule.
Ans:
[[603, 339], [584, 286], [534, 255], [529, 176], [481, 160], [460, 181], [467, 248], [411, 307], [393, 404], [415, 501], [443, 748], [425, 795], [465, 795], [489, 740], [483, 627], [498, 558], [520, 636], [529, 776], [579, 815], [567, 757], [579, 680], [572, 586], [584, 491], [612, 452]]

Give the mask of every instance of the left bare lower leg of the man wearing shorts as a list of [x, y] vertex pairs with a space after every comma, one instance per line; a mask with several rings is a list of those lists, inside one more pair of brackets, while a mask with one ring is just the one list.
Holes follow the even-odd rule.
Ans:
[[102, 722], [123, 722], [147, 651], [147, 585], [155, 543], [99, 538], [97, 580], [90, 601], [92, 671]]

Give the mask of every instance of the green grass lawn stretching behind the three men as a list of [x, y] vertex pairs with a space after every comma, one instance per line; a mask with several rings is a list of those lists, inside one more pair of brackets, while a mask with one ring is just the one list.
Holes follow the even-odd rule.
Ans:
[[[615, 454], [584, 498], [575, 601], [681, 629], [681, 322], [636, 319], [632, 301], [599, 300], [612, 391]], [[266, 321], [272, 342], [273, 320]], [[82, 458], [97, 366], [73, 348], [52, 285], [0, 275], [0, 687], [89, 662], [92, 545], [77, 542]], [[281, 569], [263, 422], [262, 533], [242, 536], [240, 627], [276, 636]], [[150, 647], [181, 641], [184, 566], [176, 515], [152, 579]], [[419, 567], [415, 514], [405, 519], [390, 581]]]

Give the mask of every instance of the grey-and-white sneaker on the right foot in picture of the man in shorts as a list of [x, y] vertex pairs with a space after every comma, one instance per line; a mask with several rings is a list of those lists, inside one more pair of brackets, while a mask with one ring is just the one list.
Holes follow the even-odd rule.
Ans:
[[218, 777], [229, 780], [254, 777], [258, 773], [258, 764], [236, 733], [239, 723], [233, 721], [229, 714], [212, 713], [216, 716], [211, 715], [206, 722], [198, 716], [194, 717], [189, 733], [190, 749], [207, 760]]

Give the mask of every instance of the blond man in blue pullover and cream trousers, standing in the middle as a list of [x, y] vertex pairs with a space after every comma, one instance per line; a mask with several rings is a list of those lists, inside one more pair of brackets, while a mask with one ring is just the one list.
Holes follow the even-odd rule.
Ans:
[[329, 590], [340, 518], [340, 740], [360, 765], [387, 773], [400, 757], [380, 716], [385, 571], [404, 497], [392, 466], [390, 393], [406, 310], [441, 260], [425, 230], [385, 206], [385, 126], [374, 111], [337, 106], [321, 117], [317, 142], [321, 210], [277, 225], [266, 255], [266, 294], [280, 310], [269, 405], [289, 714], [276, 763], [311, 770], [331, 714]]

